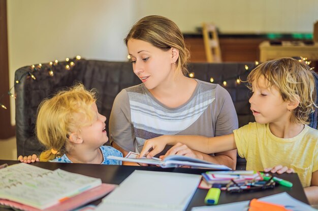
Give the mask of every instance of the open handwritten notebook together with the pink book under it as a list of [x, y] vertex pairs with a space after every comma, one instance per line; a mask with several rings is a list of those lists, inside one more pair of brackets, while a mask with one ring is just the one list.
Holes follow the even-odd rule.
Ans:
[[70, 210], [116, 187], [102, 185], [101, 179], [26, 163], [2, 168], [0, 178], [0, 204], [23, 210]]

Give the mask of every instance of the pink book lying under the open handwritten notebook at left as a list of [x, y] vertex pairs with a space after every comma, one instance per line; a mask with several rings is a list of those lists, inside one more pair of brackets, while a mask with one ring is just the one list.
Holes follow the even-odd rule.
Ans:
[[111, 192], [116, 187], [117, 185], [103, 183], [100, 186], [84, 191], [73, 197], [66, 198], [58, 204], [55, 204], [45, 209], [38, 209], [32, 206], [24, 205], [7, 199], [0, 199], [0, 204], [25, 211], [69, 211], [105, 196], [107, 193]]

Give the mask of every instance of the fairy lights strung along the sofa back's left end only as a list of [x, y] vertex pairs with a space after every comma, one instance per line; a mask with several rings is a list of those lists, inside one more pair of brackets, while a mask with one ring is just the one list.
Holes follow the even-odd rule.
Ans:
[[[66, 70], [71, 70], [73, 66], [75, 66], [75, 63], [77, 60], [80, 60], [81, 59], [81, 56], [76, 56], [74, 57], [73, 59], [70, 59], [70, 58], [66, 58], [65, 61], [67, 62], [66, 65], [65, 65], [65, 69]], [[58, 65], [58, 60], [54, 60], [54, 61], [51, 61], [49, 62], [49, 67], [48, 68], [45, 68], [47, 69], [47, 72], [48, 74], [53, 77], [54, 76], [54, 67]], [[34, 73], [36, 71], [41, 71], [43, 70], [43, 65], [40, 63], [40, 64], [37, 64], [37, 65], [31, 65], [29, 66], [29, 69], [30, 71], [28, 72], [25, 72], [24, 74], [22, 74], [20, 76], [19, 79], [17, 79], [16, 81], [14, 81], [14, 85], [9, 89], [8, 91], [8, 95], [14, 99], [16, 99], [16, 96], [13, 94], [12, 90], [13, 88], [15, 88], [15, 86], [21, 81], [22, 78], [26, 77], [26, 76], [30, 76], [32, 79], [34, 80], [37, 80], [36, 76], [34, 75]], [[2, 94], [1, 97], [0, 97], [0, 106], [3, 108], [3, 109], [7, 109], [7, 106], [4, 105], [1, 100], [5, 97], [6, 93]]]

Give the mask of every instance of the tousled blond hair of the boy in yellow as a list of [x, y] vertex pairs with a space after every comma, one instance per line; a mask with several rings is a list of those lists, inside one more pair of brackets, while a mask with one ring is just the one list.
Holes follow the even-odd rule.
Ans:
[[283, 101], [299, 101], [292, 110], [291, 121], [308, 124], [308, 115], [314, 111], [316, 101], [315, 81], [310, 68], [293, 58], [280, 58], [262, 63], [247, 76], [251, 83], [264, 76], [269, 84], [278, 88]]

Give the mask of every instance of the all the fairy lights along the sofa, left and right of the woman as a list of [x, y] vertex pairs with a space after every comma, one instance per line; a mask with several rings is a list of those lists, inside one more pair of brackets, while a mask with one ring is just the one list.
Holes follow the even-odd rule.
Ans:
[[[66, 69], [66, 70], [71, 70], [71, 68], [75, 65], [75, 62], [76, 62], [77, 60], [80, 60], [80, 59], [81, 59], [80, 56], [76, 56], [76, 57], [75, 57], [74, 59], [72, 59], [72, 60], [69, 59], [69, 58], [66, 58], [67, 64], [65, 65], [65, 69]], [[309, 65], [309, 64], [311, 63], [311, 61], [307, 61], [307, 58], [303, 58], [303, 57], [300, 57], [300, 59], [299, 59], [298, 61], [299, 61], [299, 62], [303, 62], [303, 63], [305, 63], [305, 64], [307, 64], [307, 65]], [[49, 67], [50, 67], [50, 68], [48, 68], [48, 74], [49, 74], [51, 77], [54, 76], [54, 66], [56, 66], [57, 64], [58, 64], [58, 60], [54, 60], [54, 61], [49, 62]], [[256, 65], [256, 66], [259, 65], [259, 62], [258, 62], [258, 61], [255, 61], [255, 65]], [[37, 78], [34, 76], [33, 73], [36, 72], [36, 71], [40, 71], [40, 70], [42, 69], [42, 67], [43, 67], [42, 64], [31, 65], [31, 66], [30, 66], [30, 71], [25, 72], [24, 74], [21, 75], [21, 77], [20, 77], [18, 80], [15, 81], [14, 86], [12, 86], [12, 87], [10, 88], [10, 90], [8, 91], [8, 95], [9, 95], [10, 97], [12, 97], [12, 98], [16, 98], [15, 95], [12, 93], [12, 89], [20, 82], [20, 80], [21, 80], [23, 77], [25, 77], [25, 76], [27, 76], [27, 75], [29, 75], [32, 79], [37, 80]], [[211, 83], [213, 83], [213, 82], [221, 82], [223, 86], [227, 86], [229, 80], [235, 79], [236, 83], [239, 85], [239, 84], [242, 82], [242, 80], [241, 80], [240, 77], [243, 76], [243, 75], [245, 75], [245, 74], [247, 74], [247, 73], [250, 71], [250, 69], [249, 69], [249, 67], [248, 67], [247, 65], [245, 65], [244, 67], [245, 67], [245, 71], [242, 72], [242, 73], [240, 73], [240, 74], [237, 75], [236, 77], [234, 76], [234, 77], [229, 77], [229, 78], [226, 78], [226, 79], [221, 79], [221, 81], [215, 81], [215, 79], [214, 79], [213, 77], [210, 77], [210, 82], [211, 82]], [[313, 69], [313, 67], [311, 67], [310, 70], [311, 70], [311, 69]], [[188, 74], [188, 76], [193, 78], [193, 77], [195, 77], [195, 73], [194, 73], [194, 72], [190, 72], [190, 73]], [[6, 107], [3, 103], [1, 103], [1, 100], [3, 99], [3, 97], [4, 97], [5, 95], [6, 95], [6, 93], [2, 94], [2, 96], [0, 97], [0, 106], [1, 106], [2, 108], [4, 108], [4, 109], [7, 109], [7, 107]]]

